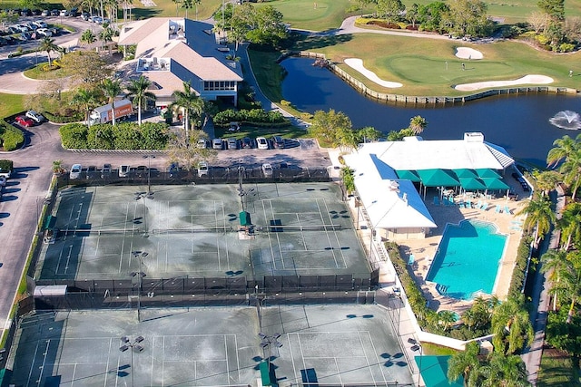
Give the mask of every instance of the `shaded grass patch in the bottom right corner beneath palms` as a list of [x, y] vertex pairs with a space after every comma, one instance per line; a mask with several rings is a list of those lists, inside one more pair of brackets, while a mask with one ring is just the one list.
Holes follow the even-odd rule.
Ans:
[[538, 387], [581, 386], [578, 364], [566, 353], [553, 349], [543, 350]]

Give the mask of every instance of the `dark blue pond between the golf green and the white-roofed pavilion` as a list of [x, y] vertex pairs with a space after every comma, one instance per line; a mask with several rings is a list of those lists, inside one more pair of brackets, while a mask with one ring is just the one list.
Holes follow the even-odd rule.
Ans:
[[481, 131], [487, 141], [504, 147], [513, 158], [538, 166], [546, 165], [554, 140], [581, 133], [549, 122], [560, 111], [581, 112], [578, 96], [512, 94], [446, 107], [386, 104], [359, 94], [329, 70], [313, 66], [313, 62], [293, 57], [281, 63], [288, 72], [282, 83], [284, 99], [301, 111], [343, 111], [354, 128], [399, 131], [408, 127], [411, 117], [421, 115], [428, 121], [422, 133], [426, 140], [460, 139], [466, 131]]

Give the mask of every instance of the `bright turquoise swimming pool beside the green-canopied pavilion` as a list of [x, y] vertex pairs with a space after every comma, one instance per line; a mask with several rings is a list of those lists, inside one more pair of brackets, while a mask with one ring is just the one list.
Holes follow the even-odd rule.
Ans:
[[471, 300], [478, 293], [490, 295], [506, 245], [507, 236], [498, 234], [492, 223], [448, 223], [426, 280], [435, 282], [440, 294], [452, 298]]

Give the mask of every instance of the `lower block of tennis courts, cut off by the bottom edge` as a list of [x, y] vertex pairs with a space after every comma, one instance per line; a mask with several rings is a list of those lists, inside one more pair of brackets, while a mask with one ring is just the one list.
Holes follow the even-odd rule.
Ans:
[[131, 311], [35, 314], [20, 325], [11, 382], [256, 386], [269, 354], [278, 385], [412, 382], [379, 306], [265, 306], [262, 314], [262, 332], [280, 334], [270, 346], [261, 345], [254, 307], [151, 309], [139, 324]]

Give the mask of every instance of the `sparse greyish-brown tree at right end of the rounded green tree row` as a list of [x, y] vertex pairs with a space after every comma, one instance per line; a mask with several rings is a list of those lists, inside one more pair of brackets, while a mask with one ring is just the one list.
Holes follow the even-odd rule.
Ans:
[[168, 142], [168, 159], [170, 162], [179, 163], [182, 168], [192, 170], [201, 161], [212, 162], [218, 155], [217, 150], [200, 149], [196, 145], [198, 140], [206, 139], [203, 131], [183, 131], [172, 133]]

